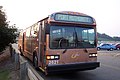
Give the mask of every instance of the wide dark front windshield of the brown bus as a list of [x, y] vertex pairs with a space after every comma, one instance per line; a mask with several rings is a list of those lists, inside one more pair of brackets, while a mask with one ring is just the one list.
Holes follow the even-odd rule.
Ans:
[[50, 48], [95, 48], [95, 30], [92, 27], [50, 26]]

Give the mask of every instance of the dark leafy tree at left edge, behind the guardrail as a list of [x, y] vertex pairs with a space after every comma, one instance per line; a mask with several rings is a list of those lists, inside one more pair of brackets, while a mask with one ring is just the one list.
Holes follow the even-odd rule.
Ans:
[[16, 42], [17, 28], [9, 26], [6, 22], [6, 14], [0, 6], [0, 52], [3, 51], [10, 43]]

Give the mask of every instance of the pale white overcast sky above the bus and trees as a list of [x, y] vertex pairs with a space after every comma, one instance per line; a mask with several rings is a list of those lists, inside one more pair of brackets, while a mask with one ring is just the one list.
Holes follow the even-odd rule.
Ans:
[[10, 25], [25, 29], [59, 11], [75, 11], [95, 18], [97, 31], [120, 37], [120, 0], [0, 0]]

